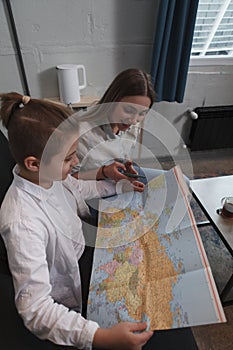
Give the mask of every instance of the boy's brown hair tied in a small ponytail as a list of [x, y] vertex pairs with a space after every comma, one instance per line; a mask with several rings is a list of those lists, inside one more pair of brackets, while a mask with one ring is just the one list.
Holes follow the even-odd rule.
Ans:
[[28, 156], [41, 159], [54, 130], [73, 114], [68, 107], [17, 92], [0, 94], [0, 98], [0, 117], [8, 129], [9, 147], [22, 167]]

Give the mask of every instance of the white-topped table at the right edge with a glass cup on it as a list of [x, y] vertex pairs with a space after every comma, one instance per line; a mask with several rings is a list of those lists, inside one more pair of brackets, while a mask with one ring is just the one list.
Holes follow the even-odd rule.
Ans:
[[[233, 219], [224, 218], [217, 213], [217, 210], [221, 208], [221, 199], [233, 196], [233, 175], [191, 180], [190, 188], [194, 198], [222, 239], [227, 250], [233, 256]], [[225, 301], [232, 287], [233, 271], [220, 294], [224, 305], [232, 304], [233, 302]]]

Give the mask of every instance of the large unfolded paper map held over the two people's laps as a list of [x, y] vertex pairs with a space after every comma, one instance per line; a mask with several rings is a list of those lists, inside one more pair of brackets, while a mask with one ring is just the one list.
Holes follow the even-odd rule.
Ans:
[[88, 319], [171, 329], [225, 322], [179, 167], [101, 200]]

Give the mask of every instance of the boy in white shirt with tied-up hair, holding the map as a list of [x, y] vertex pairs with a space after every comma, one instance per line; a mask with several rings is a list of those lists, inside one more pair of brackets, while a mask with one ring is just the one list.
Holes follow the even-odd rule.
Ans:
[[[77, 213], [88, 212], [85, 199], [114, 194], [115, 185], [70, 176], [78, 136], [69, 109], [17, 93], [0, 98], [17, 163], [0, 232], [25, 326], [40, 339], [79, 349], [141, 349], [153, 334], [145, 323], [101, 329], [81, 315], [78, 260], [85, 242]], [[132, 189], [143, 187], [135, 181]]]

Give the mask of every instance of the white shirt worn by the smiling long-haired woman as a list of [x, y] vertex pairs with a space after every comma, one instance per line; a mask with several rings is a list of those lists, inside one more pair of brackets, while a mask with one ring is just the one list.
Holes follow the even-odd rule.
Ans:
[[[106, 123], [106, 124], [105, 124]], [[115, 159], [131, 159], [140, 126], [132, 125], [118, 135], [112, 132], [109, 121], [85, 121], [80, 123], [77, 156], [80, 163], [74, 168], [79, 171], [97, 169], [103, 164], [111, 164]]]

